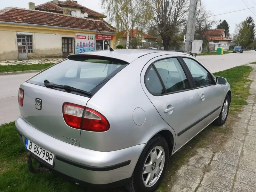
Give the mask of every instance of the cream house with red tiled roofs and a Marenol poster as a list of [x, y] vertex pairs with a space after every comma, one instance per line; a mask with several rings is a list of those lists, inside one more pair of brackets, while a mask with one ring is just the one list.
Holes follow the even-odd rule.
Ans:
[[[88, 17], [86, 17], [88, 15]], [[53, 0], [29, 9], [0, 10], [0, 60], [66, 58], [116, 47], [115, 28], [77, 1]], [[100, 31], [99, 31], [100, 30]], [[101, 34], [100, 34], [101, 32]]]

